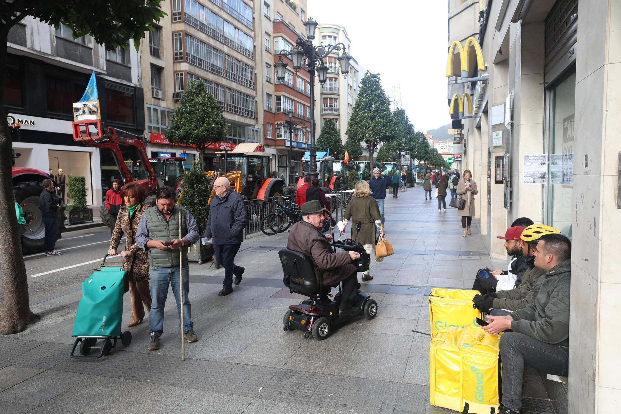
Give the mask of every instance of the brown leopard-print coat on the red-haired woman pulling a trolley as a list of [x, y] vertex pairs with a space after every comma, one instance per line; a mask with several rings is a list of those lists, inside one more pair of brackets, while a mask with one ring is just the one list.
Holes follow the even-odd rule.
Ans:
[[132, 254], [125, 256], [123, 269], [127, 270], [127, 272], [130, 272], [131, 270], [136, 282], [149, 280], [149, 259], [147, 252], [140, 249], [135, 242], [136, 232], [138, 231], [138, 223], [140, 223], [142, 213], [147, 211], [148, 208], [150, 208], [150, 206], [142, 203], [138, 204], [134, 210], [134, 217], [130, 221], [127, 207], [122, 206], [119, 210], [117, 222], [114, 226], [114, 231], [112, 231], [112, 237], [110, 239], [109, 248], [116, 250], [117, 247], [119, 247], [121, 236], [125, 234], [125, 237], [127, 237], [125, 239], [124, 250], [129, 250]]

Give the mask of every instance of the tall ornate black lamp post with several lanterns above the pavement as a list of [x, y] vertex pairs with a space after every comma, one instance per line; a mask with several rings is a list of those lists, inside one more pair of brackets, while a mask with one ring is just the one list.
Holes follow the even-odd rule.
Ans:
[[283, 62], [283, 56], [289, 57], [292, 62], [293, 70], [299, 71], [304, 67], [311, 75], [311, 165], [309, 175], [311, 178], [317, 178], [317, 152], [315, 152], [315, 73], [319, 78], [319, 83], [324, 85], [327, 80], [328, 67], [324, 63], [324, 59], [327, 58], [330, 53], [343, 50], [343, 53], [337, 58], [340, 66], [341, 74], [347, 76], [350, 68], [351, 56], [348, 55], [345, 45], [337, 43], [335, 45], [319, 44], [317, 46], [312, 45], [312, 40], [315, 39], [315, 29], [317, 29], [317, 22], [309, 17], [308, 21], [304, 23], [306, 27], [306, 39], [298, 37], [296, 40], [296, 47], [291, 50], [281, 50], [279, 52], [280, 57], [277, 63], [274, 63], [276, 69], [276, 80], [279, 83], [284, 81], [284, 75], [288, 64]]

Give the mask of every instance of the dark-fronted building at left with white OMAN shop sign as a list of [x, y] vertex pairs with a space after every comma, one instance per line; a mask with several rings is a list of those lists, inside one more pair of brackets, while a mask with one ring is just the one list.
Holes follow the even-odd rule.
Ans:
[[[16, 167], [86, 179], [86, 203], [99, 205], [111, 180], [121, 178], [107, 149], [74, 142], [73, 103], [82, 97], [91, 73], [97, 75], [102, 121], [142, 135], [145, 129], [140, 57], [135, 48], [107, 51], [90, 36], [73, 39], [71, 30], [26, 17], [12, 27], [8, 42], [5, 102], [9, 120], [19, 122], [13, 136]], [[131, 156], [132, 154], [128, 154]], [[65, 195], [65, 203], [71, 203]]]

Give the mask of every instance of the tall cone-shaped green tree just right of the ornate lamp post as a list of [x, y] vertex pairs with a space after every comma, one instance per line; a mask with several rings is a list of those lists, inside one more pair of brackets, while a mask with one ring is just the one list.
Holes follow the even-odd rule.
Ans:
[[367, 71], [360, 83], [360, 91], [347, 124], [347, 136], [358, 142], [365, 142], [369, 161], [381, 142], [387, 142], [394, 135], [390, 101], [381, 85], [379, 73]]

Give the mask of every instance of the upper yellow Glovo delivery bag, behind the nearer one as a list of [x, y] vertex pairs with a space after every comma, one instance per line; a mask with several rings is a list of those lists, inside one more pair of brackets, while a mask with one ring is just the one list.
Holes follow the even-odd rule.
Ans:
[[476, 290], [433, 288], [429, 295], [429, 321], [431, 336], [435, 337], [440, 329], [457, 326], [479, 326], [476, 318], [484, 315], [473, 308]]

